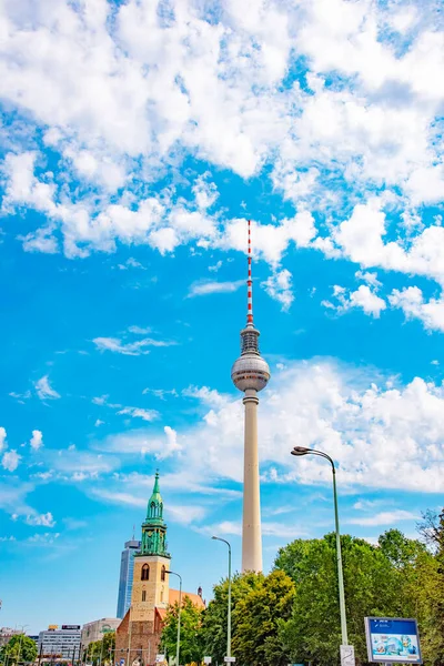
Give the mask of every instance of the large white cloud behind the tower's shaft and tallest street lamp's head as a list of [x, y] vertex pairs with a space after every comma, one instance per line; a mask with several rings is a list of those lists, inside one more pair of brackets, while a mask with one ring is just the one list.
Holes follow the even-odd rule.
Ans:
[[[194, 390], [194, 395], [199, 393]], [[208, 404], [209, 390], [202, 393]], [[297, 404], [297, 410], [294, 405]], [[291, 363], [273, 376], [260, 395], [260, 457], [264, 483], [331, 483], [323, 461], [290, 455], [294, 445], [315, 446], [339, 464], [343, 485], [402, 488], [416, 492], [444, 490], [444, 389], [416, 377], [394, 385], [367, 369], [331, 362]], [[149, 431], [109, 437], [109, 451], [152, 453], [165, 457], [188, 477], [242, 482], [242, 403], [239, 397], [211, 400], [202, 421], [165, 438]], [[188, 487], [188, 486], [186, 486]]]

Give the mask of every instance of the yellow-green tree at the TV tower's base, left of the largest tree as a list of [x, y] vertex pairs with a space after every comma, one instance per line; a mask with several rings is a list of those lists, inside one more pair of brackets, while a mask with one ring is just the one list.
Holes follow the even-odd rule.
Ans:
[[283, 571], [274, 571], [238, 602], [233, 636], [238, 664], [283, 666], [289, 663], [279, 626], [290, 618], [293, 599], [293, 581]]

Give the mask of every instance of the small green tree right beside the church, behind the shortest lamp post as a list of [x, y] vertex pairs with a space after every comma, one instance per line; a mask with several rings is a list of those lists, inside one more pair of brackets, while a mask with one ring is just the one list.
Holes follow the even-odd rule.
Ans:
[[[163, 624], [161, 645], [168, 657], [175, 657], [178, 640], [179, 604], [170, 606]], [[190, 597], [182, 601], [180, 663], [201, 662], [203, 657], [203, 610], [194, 606]]]

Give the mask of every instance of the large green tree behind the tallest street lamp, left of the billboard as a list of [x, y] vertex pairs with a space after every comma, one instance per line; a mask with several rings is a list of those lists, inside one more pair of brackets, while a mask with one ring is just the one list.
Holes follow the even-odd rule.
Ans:
[[[341, 537], [341, 546], [349, 640], [355, 647], [357, 663], [365, 663], [364, 617], [402, 616], [410, 599], [400, 571], [382, 547], [347, 535]], [[390, 537], [385, 546], [386, 549], [392, 546]], [[311, 660], [319, 666], [339, 664], [341, 624], [335, 535], [296, 539], [281, 548], [275, 567], [287, 573], [296, 588], [292, 617], [280, 627], [282, 644], [296, 662]]]

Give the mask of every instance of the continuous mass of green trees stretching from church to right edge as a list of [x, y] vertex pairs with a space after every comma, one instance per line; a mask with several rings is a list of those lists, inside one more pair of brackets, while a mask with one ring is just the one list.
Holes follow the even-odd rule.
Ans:
[[[424, 541], [389, 529], [376, 544], [341, 537], [349, 643], [366, 664], [365, 616], [416, 617], [427, 666], [444, 666], [444, 512], [426, 514]], [[178, 605], [169, 608], [162, 643], [175, 655]], [[205, 610], [184, 602], [181, 664], [226, 655], [228, 581], [214, 586]], [[295, 539], [268, 575], [232, 579], [232, 655], [236, 666], [289, 663], [337, 666], [342, 643], [335, 535]]]

